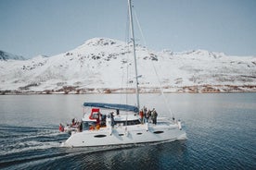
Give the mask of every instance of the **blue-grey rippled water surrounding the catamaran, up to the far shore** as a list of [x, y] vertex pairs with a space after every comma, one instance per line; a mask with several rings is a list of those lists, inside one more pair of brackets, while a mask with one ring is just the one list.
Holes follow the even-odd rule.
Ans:
[[[83, 102], [125, 103], [124, 95], [0, 96], [0, 169], [256, 169], [256, 93], [141, 95], [161, 116], [169, 103], [187, 140], [127, 147], [60, 148], [58, 124]], [[128, 96], [127, 103], [134, 98]]]

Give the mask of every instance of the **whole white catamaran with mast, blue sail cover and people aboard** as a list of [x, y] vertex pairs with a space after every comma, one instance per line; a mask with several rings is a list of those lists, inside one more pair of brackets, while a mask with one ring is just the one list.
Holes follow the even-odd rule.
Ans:
[[128, 9], [133, 42], [136, 105], [83, 103], [86, 109], [80, 127], [71, 132], [70, 138], [62, 146], [111, 146], [186, 139], [186, 131], [180, 120], [160, 118], [154, 110], [140, 109], [131, 0], [128, 0]]

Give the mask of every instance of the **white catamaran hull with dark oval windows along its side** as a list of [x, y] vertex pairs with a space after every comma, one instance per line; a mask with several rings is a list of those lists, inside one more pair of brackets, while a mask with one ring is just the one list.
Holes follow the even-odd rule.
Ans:
[[169, 140], [185, 140], [186, 132], [173, 125], [136, 125], [130, 127], [100, 128], [73, 133], [62, 143], [66, 147], [125, 145]]

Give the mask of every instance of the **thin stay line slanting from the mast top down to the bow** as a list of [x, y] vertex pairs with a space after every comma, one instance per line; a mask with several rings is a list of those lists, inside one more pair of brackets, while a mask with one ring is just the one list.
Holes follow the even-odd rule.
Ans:
[[[136, 21], [136, 23], [137, 23], [138, 29], [140, 30], [140, 34], [141, 34], [141, 36], [142, 36], [143, 42], [144, 42], [144, 44], [145, 44], [145, 46], [146, 46], [147, 54], [150, 56], [149, 50], [148, 50], [148, 48], [147, 48], [147, 42], [146, 42], [146, 39], [145, 39], [145, 37], [144, 37], [143, 31], [142, 31], [142, 29], [141, 29], [141, 26], [140, 26], [139, 20], [138, 20], [138, 18], [137, 18], [135, 9], [134, 9], [134, 17], [135, 17], [135, 21]], [[160, 93], [161, 93], [161, 95], [163, 96], [164, 103], [165, 103], [165, 105], [166, 105], [166, 107], [167, 107], [169, 113], [172, 114], [172, 116], [174, 117], [173, 112], [172, 112], [172, 110], [171, 110], [169, 104], [167, 103], [166, 96], [165, 96], [164, 93], [163, 93], [162, 84], [161, 84], [161, 82], [160, 82], [160, 76], [159, 76], [158, 71], [157, 71], [157, 69], [156, 69], [156, 67], [155, 67], [155, 65], [154, 65], [154, 62], [153, 62], [152, 60], [151, 60], [151, 64], [152, 64], [152, 66], [153, 66], [153, 68], [154, 68], [155, 74], [157, 75], [157, 78], [158, 78], [158, 81], [159, 81], [159, 84], [160, 84]]]

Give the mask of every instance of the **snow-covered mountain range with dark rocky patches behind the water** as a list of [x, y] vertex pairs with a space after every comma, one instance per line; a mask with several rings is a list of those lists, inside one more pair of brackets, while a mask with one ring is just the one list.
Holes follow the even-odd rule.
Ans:
[[[136, 46], [139, 87], [159, 91], [256, 91], [256, 57], [197, 50], [155, 52]], [[2, 93], [134, 91], [132, 44], [95, 38], [68, 52], [0, 60]]]

